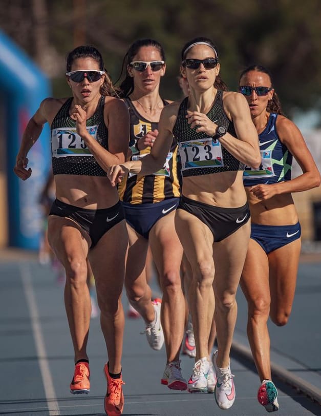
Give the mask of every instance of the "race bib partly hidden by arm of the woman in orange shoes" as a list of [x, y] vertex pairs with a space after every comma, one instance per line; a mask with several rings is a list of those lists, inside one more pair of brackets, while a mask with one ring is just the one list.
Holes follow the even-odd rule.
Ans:
[[[98, 126], [86, 128], [96, 140]], [[53, 157], [92, 156], [83, 139], [77, 134], [76, 128], [58, 128], [51, 133], [51, 150]]]

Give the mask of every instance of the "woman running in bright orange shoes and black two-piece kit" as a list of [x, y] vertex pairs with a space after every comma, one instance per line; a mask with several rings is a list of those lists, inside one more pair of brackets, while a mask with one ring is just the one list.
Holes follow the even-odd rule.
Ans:
[[129, 113], [113, 97], [114, 88], [99, 51], [79, 46], [67, 57], [72, 97], [47, 98], [30, 119], [16, 159], [15, 173], [31, 175], [27, 154], [46, 122], [51, 127], [56, 187], [48, 219], [48, 239], [66, 269], [65, 306], [74, 347], [75, 370], [70, 391], [90, 390], [87, 341], [91, 300], [87, 258], [96, 282], [101, 328], [108, 351], [106, 413], [122, 412], [121, 379], [124, 313], [121, 293], [128, 234], [117, 190], [106, 178], [109, 165], [125, 160]]

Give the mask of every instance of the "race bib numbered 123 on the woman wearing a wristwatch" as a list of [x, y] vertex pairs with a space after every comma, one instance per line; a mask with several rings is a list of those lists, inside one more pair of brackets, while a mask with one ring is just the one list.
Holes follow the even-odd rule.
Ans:
[[222, 147], [211, 137], [179, 143], [182, 170], [200, 168], [220, 168], [224, 166]]

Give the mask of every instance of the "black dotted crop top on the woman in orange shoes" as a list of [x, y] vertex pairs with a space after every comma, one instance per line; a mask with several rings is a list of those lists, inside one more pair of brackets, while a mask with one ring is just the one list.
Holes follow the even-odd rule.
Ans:
[[[73, 98], [62, 105], [51, 124], [51, 160], [54, 175], [106, 176], [82, 138], [76, 132], [76, 121], [70, 115]], [[87, 120], [88, 133], [108, 150], [108, 130], [103, 119], [105, 97]]]

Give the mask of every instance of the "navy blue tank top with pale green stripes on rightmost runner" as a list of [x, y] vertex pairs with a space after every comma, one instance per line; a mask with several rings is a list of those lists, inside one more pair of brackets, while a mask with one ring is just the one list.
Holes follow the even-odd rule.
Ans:
[[277, 183], [291, 179], [292, 154], [276, 131], [277, 114], [271, 113], [266, 128], [259, 134], [261, 165], [258, 170], [246, 166], [244, 186]]

